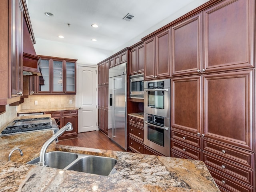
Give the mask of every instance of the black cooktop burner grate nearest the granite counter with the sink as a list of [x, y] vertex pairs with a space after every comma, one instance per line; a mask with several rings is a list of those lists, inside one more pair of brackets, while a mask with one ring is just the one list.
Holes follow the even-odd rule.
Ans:
[[28, 124], [28, 125], [18, 125], [18, 126], [7, 126], [2, 134], [18, 133], [18, 132], [27, 132], [34, 130], [42, 130], [52, 128], [50, 122], [38, 123], [38, 124]]

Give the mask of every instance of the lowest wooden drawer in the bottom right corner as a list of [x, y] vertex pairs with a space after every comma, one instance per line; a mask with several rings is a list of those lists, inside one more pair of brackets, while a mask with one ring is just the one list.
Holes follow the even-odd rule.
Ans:
[[214, 181], [216, 184], [220, 187], [220, 189], [224, 189], [222, 191], [228, 191], [228, 192], [253, 192], [253, 188], [242, 184], [240, 182], [237, 182], [236, 180], [233, 180], [232, 178], [229, 178], [228, 176], [222, 174], [221, 172], [218, 172], [209, 166], [207, 166], [210, 174], [214, 178]]

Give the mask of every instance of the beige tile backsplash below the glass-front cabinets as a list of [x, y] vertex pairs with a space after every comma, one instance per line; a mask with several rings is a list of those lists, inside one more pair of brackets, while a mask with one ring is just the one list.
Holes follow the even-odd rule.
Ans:
[[[72, 104], [69, 103], [70, 100], [72, 100]], [[35, 101], [37, 101], [37, 105], [35, 105]], [[31, 95], [28, 98], [24, 98], [24, 103], [18, 106], [18, 111], [75, 106], [76, 95]]]

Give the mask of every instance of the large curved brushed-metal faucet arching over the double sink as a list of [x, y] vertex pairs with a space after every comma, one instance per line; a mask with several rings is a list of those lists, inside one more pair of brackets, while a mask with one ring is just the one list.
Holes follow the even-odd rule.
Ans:
[[64, 127], [62, 127], [56, 134], [54, 134], [50, 139], [48, 139], [44, 145], [42, 146], [42, 149], [40, 151], [40, 159], [39, 162], [37, 163], [39, 166], [45, 166], [45, 153], [48, 148], [48, 146], [54, 142], [59, 136], [61, 136], [65, 131], [72, 131], [73, 126], [72, 123], [68, 122]]

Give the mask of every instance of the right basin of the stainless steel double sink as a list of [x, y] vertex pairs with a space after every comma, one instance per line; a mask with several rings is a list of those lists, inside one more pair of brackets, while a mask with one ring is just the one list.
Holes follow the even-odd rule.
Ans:
[[86, 156], [74, 162], [67, 170], [108, 176], [116, 162], [117, 160], [114, 158]]

